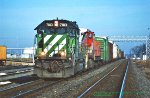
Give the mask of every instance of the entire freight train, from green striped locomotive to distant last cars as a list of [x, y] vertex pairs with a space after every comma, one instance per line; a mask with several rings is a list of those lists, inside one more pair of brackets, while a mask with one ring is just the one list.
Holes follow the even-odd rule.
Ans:
[[45, 20], [35, 30], [34, 74], [41, 78], [66, 78], [124, 57], [107, 37], [80, 30], [75, 21]]

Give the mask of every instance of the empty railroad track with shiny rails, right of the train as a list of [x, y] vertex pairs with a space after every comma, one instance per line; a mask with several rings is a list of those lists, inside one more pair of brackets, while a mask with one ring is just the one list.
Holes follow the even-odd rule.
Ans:
[[116, 66], [89, 88], [78, 94], [77, 98], [122, 98], [127, 70], [127, 62]]

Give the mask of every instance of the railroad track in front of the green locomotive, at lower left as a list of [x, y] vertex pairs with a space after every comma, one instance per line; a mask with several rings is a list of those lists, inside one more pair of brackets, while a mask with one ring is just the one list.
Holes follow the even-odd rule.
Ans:
[[22, 98], [34, 94], [50, 85], [54, 85], [61, 80], [56, 81], [45, 81], [43, 79], [38, 79], [36, 81], [30, 81], [17, 85], [15, 87], [10, 87], [0, 91], [0, 96], [4, 98]]

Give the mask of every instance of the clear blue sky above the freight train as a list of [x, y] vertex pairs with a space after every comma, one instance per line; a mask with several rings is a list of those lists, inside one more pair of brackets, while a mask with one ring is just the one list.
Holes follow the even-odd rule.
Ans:
[[150, 0], [0, 0], [0, 44], [31, 47], [34, 28], [56, 17], [96, 35], [150, 34]]

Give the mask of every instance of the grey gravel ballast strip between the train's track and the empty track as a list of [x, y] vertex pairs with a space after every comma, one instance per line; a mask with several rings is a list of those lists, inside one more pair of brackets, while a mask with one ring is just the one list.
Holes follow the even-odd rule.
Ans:
[[87, 74], [69, 78], [66, 81], [60, 82], [57, 85], [50, 87], [45, 93], [37, 98], [76, 98], [77, 94], [86, 88], [90, 87], [93, 82], [96, 82], [100, 77], [104, 76], [115, 66], [122, 63], [124, 60], [119, 60], [93, 70]]

